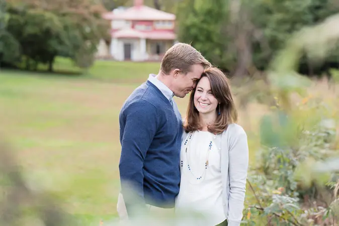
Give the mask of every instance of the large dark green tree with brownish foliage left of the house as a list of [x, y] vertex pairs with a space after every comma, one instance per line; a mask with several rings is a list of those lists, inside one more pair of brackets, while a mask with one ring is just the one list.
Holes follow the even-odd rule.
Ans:
[[[9, 28], [20, 40], [27, 69], [48, 63], [52, 71], [56, 56], [69, 57], [77, 66], [90, 66], [101, 38], [108, 37], [109, 24], [101, 15], [106, 10], [94, 0], [9, 0]], [[86, 53], [87, 63], [80, 56]], [[89, 62], [92, 59], [92, 63]]]

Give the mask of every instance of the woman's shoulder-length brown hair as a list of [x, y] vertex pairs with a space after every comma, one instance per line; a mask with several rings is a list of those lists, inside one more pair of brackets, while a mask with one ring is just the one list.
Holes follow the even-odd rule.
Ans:
[[[201, 77], [207, 77], [210, 81], [211, 92], [219, 102], [216, 108], [218, 113], [220, 109], [220, 115], [217, 115], [214, 124], [208, 127], [208, 131], [213, 134], [220, 134], [227, 129], [229, 124], [236, 123], [237, 121], [237, 111], [230, 90], [230, 85], [226, 75], [216, 67], [206, 70]], [[187, 108], [184, 124], [186, 133], [202, 129], [202, 126], [200, 125], [199, 111], [194, 105], [195, 92], [196, 88], [192, 90]]]

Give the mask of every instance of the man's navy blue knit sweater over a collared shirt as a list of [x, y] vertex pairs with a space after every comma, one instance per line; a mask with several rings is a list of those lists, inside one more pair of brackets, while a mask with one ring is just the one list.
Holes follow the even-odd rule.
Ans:
[[129, 214], [138, 201], [174, 207], [179, 193], [183, 129], [180, 112], [173, 104], [147, 81], [134, 90], [120, 111], [119, 170]]

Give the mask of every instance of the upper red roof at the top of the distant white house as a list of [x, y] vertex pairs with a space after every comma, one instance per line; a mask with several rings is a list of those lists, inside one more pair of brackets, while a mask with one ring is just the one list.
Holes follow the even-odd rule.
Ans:
[[106, 13], [103, 18], [106, 20], [174, 21], [176, 20], [176, 15], [136, 5], [118, 14], [113, 12]]

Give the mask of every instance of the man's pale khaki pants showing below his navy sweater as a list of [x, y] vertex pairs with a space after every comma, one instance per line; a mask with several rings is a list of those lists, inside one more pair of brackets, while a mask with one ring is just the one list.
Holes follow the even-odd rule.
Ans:
[[[157, 216], [164, 215], [164, 216], [171, 216], [174, 214], [174, 208], [160, 208], [154, 205], [146, 204], [146, 207], [149, 210], [150, 214], [156, 214]], [[120, 221], [128, 220], [128, 213], [124, 201], [124, 197], [121, 193], [118, 196], [118, 203], [117, 203], [117, 211], [119, 214]]]

